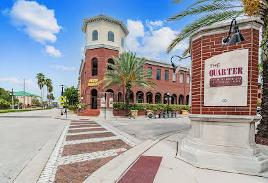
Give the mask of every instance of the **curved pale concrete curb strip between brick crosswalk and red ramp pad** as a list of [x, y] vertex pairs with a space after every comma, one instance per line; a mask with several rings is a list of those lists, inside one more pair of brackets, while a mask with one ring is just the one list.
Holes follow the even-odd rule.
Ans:
[[128, 151], [118, 155], [110, 162], [104, 164], [101, 168], [91, 174], [85, 183], [107, 183], [117, 182], [124, 172], [140, 157], [145, 151], [153, 147], [160, 140], [146, 140], [141, 144], [129, 149]]

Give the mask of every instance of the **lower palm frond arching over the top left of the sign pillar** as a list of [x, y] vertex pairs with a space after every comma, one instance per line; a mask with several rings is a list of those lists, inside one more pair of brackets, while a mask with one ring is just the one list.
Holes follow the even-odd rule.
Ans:
[[227, 19], [231, 19], [234, 17], [238, 17], [241, 14], [243, 14], [244, 11], [236, 11], [236, 10], [229, 10], [229, 11], [223, 11], [223, 12], [213, 12], [211, 14], [207, 14], [204, 17], [201, 17], [200, 19], [197, 19], [193, 23], [187, 25], [179, 34], [176, 36], [175, 39], [171, 42], [169, 47], [166, 49], [166, 54], [169, 54], [171, 50], [177, 45], [178, 43], [184, 41], [186, 38], [188, 38], [193, 32], [198, 30], [199, 28], [202, 28], [204, 26], [212, 25], [213, 23], [217, 23], [220, 21], [224, 21]]

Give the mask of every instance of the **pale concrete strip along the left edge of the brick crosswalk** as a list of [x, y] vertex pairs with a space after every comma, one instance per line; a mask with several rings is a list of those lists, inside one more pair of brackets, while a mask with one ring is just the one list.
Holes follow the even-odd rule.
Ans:
[[61, 136], [61, 133], [65, 128], [66, 127], [63, 127], [62, 129], [56, 131], [56, 133], [52, 134], [52, 136], [48, 138], [41, 150], [22, 169], [22, 171], [19, 173], [19, 175], [17, 175], [13, 182], [37, 182], [39, 175], [43, 171], [51, 152], [53, 151], [55, 145], [57, 144], [57, 141], [59, 140], [59, 137]]

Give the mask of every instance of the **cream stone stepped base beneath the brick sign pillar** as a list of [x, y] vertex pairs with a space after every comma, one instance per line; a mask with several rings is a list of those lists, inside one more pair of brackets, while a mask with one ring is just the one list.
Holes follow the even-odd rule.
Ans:
[[255, 143], [261, 116], [189, 114], [191, 130], [177, 158], [194, 166], [268, 177], [268, 157]]

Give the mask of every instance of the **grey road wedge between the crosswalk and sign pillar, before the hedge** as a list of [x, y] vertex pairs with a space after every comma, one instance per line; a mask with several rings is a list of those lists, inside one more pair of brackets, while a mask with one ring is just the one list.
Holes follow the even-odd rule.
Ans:
[[139, 140], [155, 140], [176, 131], [190, 129], [190, 120], [183, 118], [160, 118], [150, 120], [111, 120], [105, 123], [124, 131]]

